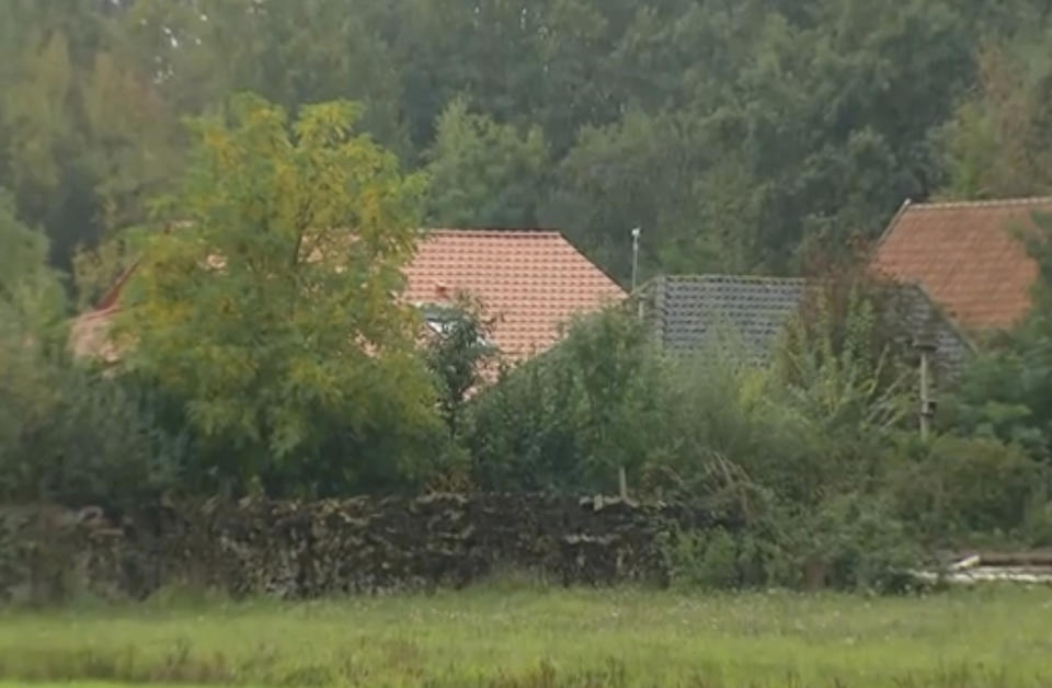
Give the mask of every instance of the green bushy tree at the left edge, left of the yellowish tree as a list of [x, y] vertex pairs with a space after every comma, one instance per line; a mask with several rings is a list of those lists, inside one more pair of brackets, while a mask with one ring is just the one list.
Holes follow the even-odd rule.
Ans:
[[129, 506], [174, 485], [181, 442], [134, 387], [69, 359], [47, 240], [0, 194], [0, 500]]

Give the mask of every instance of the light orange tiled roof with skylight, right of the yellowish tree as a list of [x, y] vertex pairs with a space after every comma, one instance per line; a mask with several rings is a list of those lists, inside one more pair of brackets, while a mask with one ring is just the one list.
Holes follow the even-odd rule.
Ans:
[[493, 343], [517, 360], [551, 346], [559, 328], [627, 295], [558, 231], [437, 229], [405, 268], [404, 298], [442, 303], [458, 291], [496, 320]]

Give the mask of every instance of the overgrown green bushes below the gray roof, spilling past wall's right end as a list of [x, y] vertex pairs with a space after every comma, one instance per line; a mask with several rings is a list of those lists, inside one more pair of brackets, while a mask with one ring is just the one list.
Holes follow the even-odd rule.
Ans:
[[[825, 282], [769, 366], [725, 344], [666, 356], [609, 311], [471, 406], [476, 484], [613, 490], [619, 463], [591, 457], [630, 448], [633, 494], [747, 524], [670, 546], [682, 580], [718, 587], [897, 589], [941, 549], [1049, 541], [1045, 461], [1008, 438], [919, 438], [911, 353], [884, 324], [894, 308], [879, 284]], [[618, 383], [596, 418], [587, 376], [603, 369]]]

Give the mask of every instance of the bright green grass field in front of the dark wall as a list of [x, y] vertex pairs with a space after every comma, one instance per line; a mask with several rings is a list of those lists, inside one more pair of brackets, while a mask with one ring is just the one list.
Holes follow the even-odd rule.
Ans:
[[1048, 686], [1052, 589], [865, 598], [491, 585], [0, 616], [0, 686], [72, 680], [91, 688]]

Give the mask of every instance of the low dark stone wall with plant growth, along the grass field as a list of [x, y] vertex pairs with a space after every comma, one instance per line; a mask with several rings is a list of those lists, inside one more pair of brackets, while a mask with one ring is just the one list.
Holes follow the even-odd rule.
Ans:
[[663, 584], [663, 543], [713, 525], [687, 505], [500, 494], [158, 505], [119, 524], [0, 507], [0, 598], [142, 597], [175, 584], [302, 598], [456, 587], [501, 570]]

